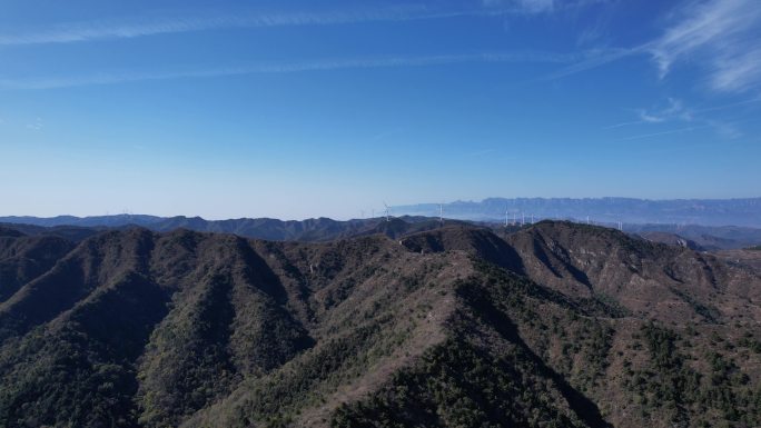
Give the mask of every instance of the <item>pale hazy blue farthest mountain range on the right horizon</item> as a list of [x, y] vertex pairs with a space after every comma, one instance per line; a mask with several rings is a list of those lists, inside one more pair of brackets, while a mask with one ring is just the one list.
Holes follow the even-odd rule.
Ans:
[[[393, 207], [397, 216], [437, 216], [437, 203]], [[444, 205], [447, 218], [476, 221], [504, 221], [523, 216], [530, 220], [575, 219], [596, 223], [672, 223], [703, 226], [761, 227], [761, 198], [673, 199], [632, 198], [488, 198], [481, 202], [456, 201]]]

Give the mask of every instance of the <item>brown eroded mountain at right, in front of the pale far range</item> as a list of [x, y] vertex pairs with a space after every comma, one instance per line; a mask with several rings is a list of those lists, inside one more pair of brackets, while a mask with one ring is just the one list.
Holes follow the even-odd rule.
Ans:
[[761, 313], [759, 275], [711, 255], [571, 222], [543, 221], [507, 242], [530, 278], [569, 296], [612, 298], [663, 320]]

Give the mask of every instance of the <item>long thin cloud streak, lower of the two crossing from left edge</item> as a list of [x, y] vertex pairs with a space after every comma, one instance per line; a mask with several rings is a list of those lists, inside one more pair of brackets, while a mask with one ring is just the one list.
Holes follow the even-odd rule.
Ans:
[[340, 69], [426, 67], [464, 62], [563, 63], [570, 62], [575, 57], [573, 54], [525, 51], [487, 52], [472, 54], [442, 54], [427, 57], [322, 59], [304, 62], [259, 62], [241, 67], [227, 67], [200, 70], [179, 70], [165, 72], [115, 72], [78, 77], [43, 77], [18, 79], [0, 78], [0, 90], [55, 89], [96, 84], [113, 84], [145, 80], [211, 78], [256, 73], [290, 73], [306, 71], [329, 71]]

